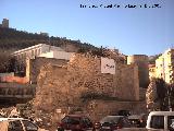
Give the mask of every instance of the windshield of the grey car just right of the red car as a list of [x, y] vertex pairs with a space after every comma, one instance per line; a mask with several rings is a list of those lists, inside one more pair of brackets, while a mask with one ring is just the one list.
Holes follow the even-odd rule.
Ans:
[[108, 116], [100, 120], [100, 123], [109, 122], [109, 123], [117, 123], [117, 121], [122, 118], [121, 116]]

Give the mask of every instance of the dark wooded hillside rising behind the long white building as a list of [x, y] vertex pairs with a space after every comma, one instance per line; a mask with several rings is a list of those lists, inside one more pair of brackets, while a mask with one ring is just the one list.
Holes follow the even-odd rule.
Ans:
[[90, 44], [80, 43], [79, 40], [71, 40], [54, 36], [49, 37], [37, 33], [33, 34], [14, 28], [0, 27], [1, 49], [22, 49], [40, 43], [50, 44], [58, 47], [66, 47], [71, 45], [75, 47], [77, 51], [90, 50], [96, 48]]

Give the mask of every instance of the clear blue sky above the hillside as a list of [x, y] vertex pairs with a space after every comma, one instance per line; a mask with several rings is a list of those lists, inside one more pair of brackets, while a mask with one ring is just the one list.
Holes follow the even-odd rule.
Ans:
[[[120, 8], [104, 8], [109, 4]], [[151, 56], [174, 46], [174, 0], [0, 0], [0, 21], [4, 17], [16, 29], [119, 48], [125, 55]]]

